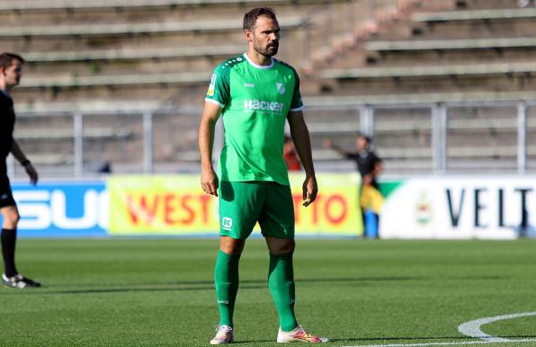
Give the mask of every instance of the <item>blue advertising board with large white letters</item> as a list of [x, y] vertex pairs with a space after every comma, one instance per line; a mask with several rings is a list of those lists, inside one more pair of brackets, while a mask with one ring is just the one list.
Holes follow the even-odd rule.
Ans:
[[105, 182], [13, 182], [22, 237], [107, 236]]

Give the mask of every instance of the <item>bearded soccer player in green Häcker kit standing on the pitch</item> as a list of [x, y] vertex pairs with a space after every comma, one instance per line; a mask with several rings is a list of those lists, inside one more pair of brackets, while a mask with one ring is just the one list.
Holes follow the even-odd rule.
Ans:
[[[282, 156], [285, 121], [306, 173], [303, 206], [317, 197], [299, 77], [292, 67], [272, 58], [280, 40], [272, 9], [246, 13], [244, 34], [247, 52], [214, 70], [199, 129], [201, 187], [219, 195], [220, 249], [214, 276], [219, 325], [210, 344], [233, 342], [238, 261], [257, 221], [270, 253], [268, 286], [280, 317], [277, 342], [324, 343], [326, 338], [308, 334], [294, 316], [294, 209]], [[220, 115], [225, 145], [217, 175], [211, 152]]]

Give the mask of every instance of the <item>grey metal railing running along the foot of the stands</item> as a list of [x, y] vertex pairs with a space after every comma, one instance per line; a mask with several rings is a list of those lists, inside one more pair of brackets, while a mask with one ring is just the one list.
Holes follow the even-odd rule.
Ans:
[[[344, 164], [335, 153], [322, 147], [322, 138], [335, 138], [349, 147], [353, 146], [353, 138], [360, 131], [376, 139], [380, 156], [384, 155], [386, 173], [442, 174], [490, 170], [526, 173], [536, 170], [534, 106], [536, 101], [355, 103], [310, 106], [305, 114], [306, 119], [310, 118], [308, 127], [319, 170], [351, 170], [352, 165]], [[475, 110], [481, 110], [481, 115], [474, 116]], [[333, 115], [337, 111], [335, 118]], [[411, 113], [418, 113], [418, 119], [414, 117], [410, 120], [409, 116], [404, 116]], [[487, 116], [487, 113], [493, 116]], [[50, 153], [32, 153], [24, 147], [24, 143], [22, 145], [38, 169], [41, 167], [41, 176], [49, 178], [94, 176], [98, 172], [91, 167], [91, 160], [99, 156], [112, 162], [114, 173], [197, 172], [197, 125], [200, 115], [201, 109], [174, 106], [146, 111], [124, 110], [120, 115], [102, 110], [63, 112], [57, 117], [63, 117], [67, 126], [72, 127], [72, 138], [62, 135], [66, 130], [64, 127], [58, 137], [53, 136], [52, 130], [43, 131], [41, 141], [53, 144], [55, 138], [62, 138], [54, 154], [70, 160], [46, 163], [40, 161], [40, 155], [49, 158]], [[103, 121], [112, 116], [119, 118], [106, 126]], [[33, 112], [21, 113], [20, 117], [21, 120], [42, 118]], [[99, 138], [91, 131], [90, 127], [94, 126], [88, 126], [87, 123], [103, 123], [98, 129], [108, 127], [111, 131], [105, 131]], [[338, 126], [341, 123], [344, 127]], [[411, 139], [417, 133], [425, 138], [424, 146]], [[21, 135], [24, 135], [22, 129]], [[31, 143], [35, 138], [35, 133], [32, 133], [26, 142]], [[222, 138], [223, 129], [219, 122], [215, 160], [223, 144]], [[456, 140], [453, 142], [452, 138]], [[489, 145], [482, 146], [482, 140]], [[99, 146], [90, 147], [88, 143]], [[115, 148], [113, 156], [108, 156], [107, 147]], [[168, 154], [168, 159], [164, 153]], [[401, 164], [396, 165], [397, 162]], [[24, 177], [22, 168], [13, 163], [13, 158], [8, 167], [12, 176]]]

